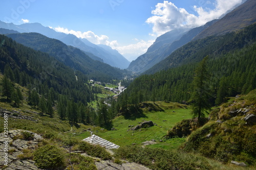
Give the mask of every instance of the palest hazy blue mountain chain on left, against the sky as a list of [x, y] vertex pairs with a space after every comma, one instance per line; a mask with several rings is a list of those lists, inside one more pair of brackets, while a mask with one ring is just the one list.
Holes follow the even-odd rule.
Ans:
[[104, 50], [104, 48], [91, 43], [85, 38], [81, 39], [77, 38], [75, 35], [72, 34], [56, 32], [53, 29], [50, 29], [49, 27], [42, 26], [40, 23], [24, 23], [22, 25], [17, 26], [14, 25], [13, 23], [5, 23], [0, 21], [0, 28], [15, 30], [20, 33], [36, 32], [45, 35], [49, 38], [58, 39], [66, 43], [67, 45], [77, 47], [86, 53], [91, 53], [92, 55], [89, 56], [92, 57], [94, 60], [103, 60], [104, 63], [107, 63], [114, 67], [125, 69], [130, 64], [130, 62], [127, 59], [125, 59], [121, 54], [112, 55], [109, 51], [106, 51]]

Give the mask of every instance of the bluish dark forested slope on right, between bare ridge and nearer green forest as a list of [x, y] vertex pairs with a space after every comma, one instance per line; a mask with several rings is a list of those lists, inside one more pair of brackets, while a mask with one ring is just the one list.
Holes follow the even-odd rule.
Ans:
[[154, 74], [157, 71], [177, 67], [182, 64], [198, 62], [207, 55], [218, 56], [229, 51], [243, 48], [255, 41], [255, 24], [240, 32], [223, 36], [209, 36], [183, 45], [166, 59], [148, 69], [144, 74]]

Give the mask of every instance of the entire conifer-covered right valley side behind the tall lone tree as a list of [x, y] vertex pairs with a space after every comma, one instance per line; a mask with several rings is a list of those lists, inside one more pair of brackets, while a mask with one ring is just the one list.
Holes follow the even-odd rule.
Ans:
[[[226, 96], [248, 93], [256, 88], [255, 37], [256, 24], [237, 33], [190, 42], [173, 53], [176, 60], [162, 63], [166, 70], [135, 79], [121, 95], [119, 102], [188, 101], [194, 69], [207, 55], [208, 70], [212, 74], [209, 82], [209, 102], [212, 105], [224, 102]], [[176, 67], [169, 68], [173, 65]]]

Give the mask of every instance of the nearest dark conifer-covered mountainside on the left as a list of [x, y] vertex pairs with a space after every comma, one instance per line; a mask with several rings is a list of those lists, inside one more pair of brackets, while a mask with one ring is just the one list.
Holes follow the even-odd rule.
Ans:
[[12, 83], [33, 89], [46, 98], [51, 91], [53, 100], [58, 99], [57, 94], [83, 103], [94, 98], [85, 84], [88, 77], [80, 71], [74, 71], [49, 54], [35, 51], [4, 35], [0, 35], [0, 42], [0, 70]]

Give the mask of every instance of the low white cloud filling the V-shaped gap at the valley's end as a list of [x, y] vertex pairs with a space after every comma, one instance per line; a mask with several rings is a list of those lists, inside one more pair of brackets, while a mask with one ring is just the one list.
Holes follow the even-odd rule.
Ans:
[[133, 61], [140, 55], [146, 53], [147, 48], [150, 47], [155, 40], [138, 40], [134, 39], [137, 43], [124, 45], [124, 46], [112, 46], [115, 50], [117, 50], [120, 54], [122, 54], [127, 60]]

